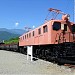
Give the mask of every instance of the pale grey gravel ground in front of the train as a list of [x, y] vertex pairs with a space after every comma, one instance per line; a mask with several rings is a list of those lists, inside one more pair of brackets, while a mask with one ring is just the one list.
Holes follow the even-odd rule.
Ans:
[[0, 50], [0, 75], [75, 75], [75, 68], [38, 59], [27, 60], [21, 53]]

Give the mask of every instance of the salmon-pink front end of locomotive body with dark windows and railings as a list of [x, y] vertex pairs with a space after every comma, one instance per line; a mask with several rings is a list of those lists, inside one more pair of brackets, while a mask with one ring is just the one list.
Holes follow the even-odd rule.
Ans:
[[53, 20], [52, 22], [51, 43], [58, 44], [74, 41], [72, 35], [75, 33], [75, 24], [69, 21], [66, 22], [66, 20]]

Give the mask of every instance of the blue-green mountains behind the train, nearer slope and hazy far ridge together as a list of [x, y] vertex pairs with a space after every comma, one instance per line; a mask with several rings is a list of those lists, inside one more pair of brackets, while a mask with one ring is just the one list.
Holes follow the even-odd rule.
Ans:
[[0, 28], [0, 41], [2, 40], [9, 40], [11, 38], [19, 37], [23, 33], [25, 33], [25, 30], [22, 29], [6, 29], [6, 28]]

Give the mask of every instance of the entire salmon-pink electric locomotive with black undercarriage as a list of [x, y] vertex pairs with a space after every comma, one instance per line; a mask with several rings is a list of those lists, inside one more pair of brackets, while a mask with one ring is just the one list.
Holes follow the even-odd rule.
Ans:
[[[50, 9], [50, 11], [60, 11]], [[75, 64], [75, 24], [69, 21], [69, 15], [62, 19], [51, 19], [43, 25], [19, 37], [21, 51], [32, 46], [33, 57]]]

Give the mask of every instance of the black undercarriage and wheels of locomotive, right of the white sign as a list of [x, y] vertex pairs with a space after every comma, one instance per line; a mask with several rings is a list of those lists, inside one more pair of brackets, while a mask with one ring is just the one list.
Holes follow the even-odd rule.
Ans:
[[60, 64], [75, 64], [75, 43], [33, 46], [33, 56]]

